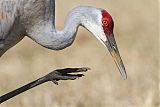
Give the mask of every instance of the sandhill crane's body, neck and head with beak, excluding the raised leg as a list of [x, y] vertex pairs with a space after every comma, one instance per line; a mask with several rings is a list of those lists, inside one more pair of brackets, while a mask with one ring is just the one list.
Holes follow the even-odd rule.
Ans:
[[101, 8], [79, 6], [67, 16], [62, 30], [55, 29], [55, 0], [0, 1], [0, 56], [24, 35], [52, 50], [70, 46], [79, 26], [90, 31], [111, 53], [120, 74], [127, 78], [113, 34], [111, 15]]

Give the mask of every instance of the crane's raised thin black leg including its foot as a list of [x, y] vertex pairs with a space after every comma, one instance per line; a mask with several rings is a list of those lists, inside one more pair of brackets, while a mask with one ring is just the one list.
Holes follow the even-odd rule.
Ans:
[[58, 70], [54, 70], [51, 73], [35, 80], [32, 81], [14, 91], [11, 91], [7, 94], [4, 94], [2, 96], [0, 96], [0, 104], [33, 88], [36, 87], [40, 84], [43, 84], [45, 82], [48, 81], [52, 81], [53, 83], [55, 83], [56, 85], [58, 85], [58, 81], [59, 80], [75, 80], [76, 78], [82, 77], [84, 76], [83, 74], [69, 74], [69, 73], [78, 73], [78, 72], [86, 72], [90, 70], [90, 68], [87, 67], [83, 67], [83, 68], [64, 68], [64, 69], [58, 69]]

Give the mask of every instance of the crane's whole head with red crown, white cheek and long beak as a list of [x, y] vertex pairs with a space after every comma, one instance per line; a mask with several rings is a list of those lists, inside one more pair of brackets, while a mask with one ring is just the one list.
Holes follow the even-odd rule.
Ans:
[[122, 78], [126, 79], [126, 70], [114, 38], [114, 22], [111, 15], [106, 10], [99, 8], [89, 7], [85, 10], [87, 10], [87, 15], [82, 25], [84, 25], [105, 47], [108, 48]]

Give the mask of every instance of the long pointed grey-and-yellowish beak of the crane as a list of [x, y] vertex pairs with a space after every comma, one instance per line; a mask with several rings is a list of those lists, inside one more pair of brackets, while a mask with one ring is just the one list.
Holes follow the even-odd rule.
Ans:
[[107, 41], [104, 41], [104, 44], [106, 45], [106, 47], [108, 48], [111, 56], [113, 57], [122, 78], [127, 79], [127, 73], [126, 73], [123, 61], [121, 59], [121, 56], [119, 54], [114, 35], [113, 34], [110, 34], [110, 35], [106, 34], [106, 37], [107, 37]]

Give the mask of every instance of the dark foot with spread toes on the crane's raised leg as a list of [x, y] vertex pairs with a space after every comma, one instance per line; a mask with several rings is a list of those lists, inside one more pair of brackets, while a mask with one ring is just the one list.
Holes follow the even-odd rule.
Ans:
[[48, 81], [52, 81], [53, 83], [58, 85], [59, 80], [75, 80], [84, 76], [84, 74], [75, 73], [87, 72], [88, 70], [90, 70], [90, 68], [88, 67], [57, 69], [47, 74], [45, 78], [47, 78]]

